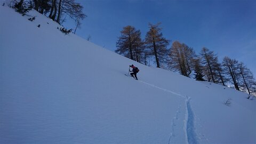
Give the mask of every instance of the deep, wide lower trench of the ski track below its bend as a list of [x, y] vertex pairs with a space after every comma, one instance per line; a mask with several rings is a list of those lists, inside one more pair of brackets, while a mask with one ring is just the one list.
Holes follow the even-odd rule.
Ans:
[[198, 137], [195, 132], [194, 127], [194, 112], [190, 106], [190, 97], [186, 96], [185, 99], [186, 104], [186, 116], [185, 116], [185, 125], [184, 125], [184, 131], [185, 136], [187, 138], [188, 143], [199, 143]]

